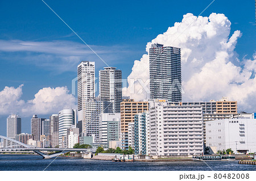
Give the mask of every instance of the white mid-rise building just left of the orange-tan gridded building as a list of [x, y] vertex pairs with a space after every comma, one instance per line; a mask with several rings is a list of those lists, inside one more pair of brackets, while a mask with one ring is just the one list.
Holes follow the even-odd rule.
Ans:
[[120, 113], [101, 113], [100, 115], [100, 142], [109, 144], [110, 141], [119, 141]]

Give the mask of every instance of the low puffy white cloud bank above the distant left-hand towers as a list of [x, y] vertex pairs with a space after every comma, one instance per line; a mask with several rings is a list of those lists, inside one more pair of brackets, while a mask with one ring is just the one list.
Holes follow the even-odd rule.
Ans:
[[5, 87], [0, 91], [0, 115], [18, 113], [22, 116], [32, 116], [33, 114], [58, 113], [64, 108], [76, 108], [76, 99], [72, 94], [68, 94], [67, 87], [45, 87], [35, 94], [35, 98], [25, 102], [20, 99], [22, 96], [22, 86]]

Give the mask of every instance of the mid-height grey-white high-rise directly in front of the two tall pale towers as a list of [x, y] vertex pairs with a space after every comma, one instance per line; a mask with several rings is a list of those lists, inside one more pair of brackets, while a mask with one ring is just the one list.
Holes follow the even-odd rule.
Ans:
[[85, 132], [80, 136], [93, 136], [94, 142], [98, 142], [99, 137], [99, 120], [101, 113], [112, 113], [112, 103], [101, 98], [89, 99], [85, 102], [86, 110], [84, 111], [85, 123], [84, 130]]

